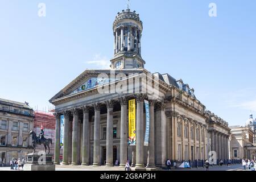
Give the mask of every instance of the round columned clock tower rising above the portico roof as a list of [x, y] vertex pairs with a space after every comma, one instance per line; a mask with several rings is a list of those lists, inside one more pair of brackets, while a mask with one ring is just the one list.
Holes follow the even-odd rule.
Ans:
[[144, 68], [145, 61], [141, 57], [142, 21], [136, 11], [122, 10], [115, 17], [114, 58], [111, 61], [112, 69], [139, 69]]

